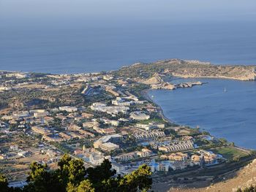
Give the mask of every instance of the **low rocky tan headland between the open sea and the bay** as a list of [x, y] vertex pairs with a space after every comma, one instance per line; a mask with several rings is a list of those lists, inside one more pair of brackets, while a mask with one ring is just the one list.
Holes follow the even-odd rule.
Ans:
[[176, 77], [213, 77], [234, 80], [255, 80], [256, 66], [212, 65], [200, 61], [171, 59], [152, 64], [136, 64], [123, 67], [118, 74], [123, 77], [152, 77], [155, 73]]

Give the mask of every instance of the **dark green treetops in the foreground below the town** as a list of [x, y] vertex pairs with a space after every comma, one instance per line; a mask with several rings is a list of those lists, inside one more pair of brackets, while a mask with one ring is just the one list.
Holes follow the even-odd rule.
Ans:
[[48, 166], [34, 162], [31, 164], [29, 177], [23, 189], [8, 188], [7, 178], [0, 174], [0, 187], [3, 192], [94, 192], [120, 191], [137, 192], [151, 189], [150, 167], [145, 164], [124, 177], [114, 177], [116, 171], [111, 169], [108, 160], [94, 168], [86, 169], [81, 159], [72, 159], [64, 155], [58, 163], [59, 169], [50, 170]]

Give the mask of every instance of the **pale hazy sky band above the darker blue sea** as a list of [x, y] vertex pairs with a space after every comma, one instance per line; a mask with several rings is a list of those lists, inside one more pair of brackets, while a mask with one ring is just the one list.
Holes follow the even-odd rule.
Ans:
[[256, 18], [255, 0], [0, 0], [0, 22], [72, 20], [240, 20]]

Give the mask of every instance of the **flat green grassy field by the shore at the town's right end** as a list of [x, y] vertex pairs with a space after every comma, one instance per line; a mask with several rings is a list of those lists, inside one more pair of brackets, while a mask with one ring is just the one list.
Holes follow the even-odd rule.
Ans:
[[223, 155], [224, 158], [228, 160], [235, 160], [236, 158], [241, 158], [246, 156], [247, 154], [241, 150], [238, 150], [235, 147], [220, 147], [212, 150], [214, 153], [218, 153]]

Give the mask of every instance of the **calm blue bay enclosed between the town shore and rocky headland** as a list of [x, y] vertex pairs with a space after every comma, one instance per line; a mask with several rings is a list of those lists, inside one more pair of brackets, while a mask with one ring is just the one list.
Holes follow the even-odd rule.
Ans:
[[[187, 126], [200, 126], [215, 137], [256, 149], [256, 82], [187, 79], [208, 82], [175, 91], [149, 91], [166, 117]], [[225, 91], [226, 90], [226, 91]]]

